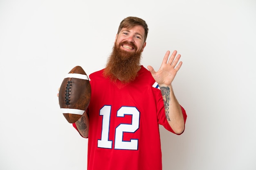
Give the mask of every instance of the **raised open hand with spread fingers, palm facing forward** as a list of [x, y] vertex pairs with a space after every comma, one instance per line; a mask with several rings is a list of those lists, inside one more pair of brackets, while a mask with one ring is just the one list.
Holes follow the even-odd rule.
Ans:
[[174, 50], [173, 53], [171, 54], [170, 59], [168, 60], [170, 51], [167, 51], [164, 55], [162, 64], [157, 72], [155, 72], [152, 66], [148, 65], [148, 70], [151, 72], [153, 78], [160, 86], [171, 86], [173, 79], [175, 78], [177, 72], [181, 67], [182, 61], [179, 62], [181, 55], [178, 54], [176, 56], [176, 54], [177, 51]]

